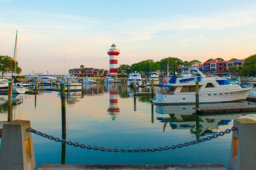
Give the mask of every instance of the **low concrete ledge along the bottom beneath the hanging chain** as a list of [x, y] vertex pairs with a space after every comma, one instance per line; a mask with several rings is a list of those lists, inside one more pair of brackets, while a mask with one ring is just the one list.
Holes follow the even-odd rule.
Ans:
[[54, 169], [226, 169], [223, 164], [43, 164], [38, 170]]

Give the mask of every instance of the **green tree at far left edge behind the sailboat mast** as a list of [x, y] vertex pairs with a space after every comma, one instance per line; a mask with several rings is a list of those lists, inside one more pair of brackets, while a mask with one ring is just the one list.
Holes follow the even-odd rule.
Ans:
[[14, 62], [12, 57], [9, 56], [0, 56], [0, 71], [2, 72], [2, 77], [4, 78], [4, 74], [12, 73], [12, 71], [15, 72], [15, 66], [16, 64], [16, 73], [20, 74], [22, 69], [18, 66], [18, 62]]

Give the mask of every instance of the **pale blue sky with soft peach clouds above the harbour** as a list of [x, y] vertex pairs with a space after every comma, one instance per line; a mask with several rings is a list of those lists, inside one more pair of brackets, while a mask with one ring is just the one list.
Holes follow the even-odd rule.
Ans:
[[0, 0], [0, 55], [14, 56], [22, 75], [109, 70], [118, 65], [175, 57], [245, 59], [255, 54], [256, 1], [18, 1]]

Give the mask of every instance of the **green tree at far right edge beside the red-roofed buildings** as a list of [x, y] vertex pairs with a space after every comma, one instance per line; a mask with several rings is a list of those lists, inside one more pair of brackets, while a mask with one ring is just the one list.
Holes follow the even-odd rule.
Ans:
[[256, 74], [256, 54], [247, 57], [242, 64], [242, 74], [247, 76], [255, 76]]

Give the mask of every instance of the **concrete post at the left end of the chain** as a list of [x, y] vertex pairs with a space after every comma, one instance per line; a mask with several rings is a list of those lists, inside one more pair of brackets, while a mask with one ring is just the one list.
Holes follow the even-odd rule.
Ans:
[[36, 169], [32, 132], [28, 120], [14, 120], [3, 125], [0, 168]]

